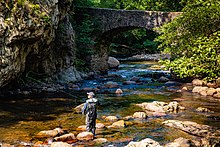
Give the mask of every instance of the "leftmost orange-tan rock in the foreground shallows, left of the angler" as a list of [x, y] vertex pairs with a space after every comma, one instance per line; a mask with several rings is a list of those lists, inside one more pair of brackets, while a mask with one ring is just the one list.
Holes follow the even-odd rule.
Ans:
[[55, 128], [54, 130], [46, 130], [46, 131], [40, 131], [36, 138], [49, 138], [49, 137], [55, 137], [57, 135], [63, 134], [64, 131], [61, 128]]

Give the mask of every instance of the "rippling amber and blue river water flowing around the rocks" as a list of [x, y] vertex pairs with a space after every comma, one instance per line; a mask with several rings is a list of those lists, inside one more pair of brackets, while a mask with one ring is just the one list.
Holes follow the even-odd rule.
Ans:
[[[103, 116], [117, 116], [119, 119], [142, 111], [135, 104], [142, 102], [178, 101], [185, 111], [170, 113], [162, 117], [148, 117], [146, 120], [131, 120], [122, 129], [97, 131], [97, 138], [106, 138], [102, 146], [125, 146], [129, 141], [151, 138], [161, 145], [178, 137], [192, 139], [193, 136], [168, 128], [162, 122], [168, 119], [189, 120], [220, 128], [220, 101], [212, 97], [202, 97], [191, 92], [176, 92], [180, 84], [157, 82], [158, 76], [169, 77], [169, 72], [153, 68], [157, 62], [124, 62], [118, 70], [109, 71], [108, 77], [84, 80], [77, 83], [81, 88], [100, 88], [96, 97], [101, 106], [98, 108], [97, 122], [108, 125]], [[136, 84], [124, 84], [131, 78], [139, 78]], [[117, 88], [102, 88], [108, 81], [117, 82], [124, 91], [117, 96]], [[0, 99], [0, 143], [12, 145], [34, 144], [35, 135], [42, 130], [62, 127], [77, 135], [76, 128], [84, 125], [85, 116], [74, 113], [74, 107], [86, 100], [86, 92], [66, 90], [63, 93], [34, 95], [31, 97], [10, 97]], [[196, 108], [208, 108], [213, 113], [200, 113]]]

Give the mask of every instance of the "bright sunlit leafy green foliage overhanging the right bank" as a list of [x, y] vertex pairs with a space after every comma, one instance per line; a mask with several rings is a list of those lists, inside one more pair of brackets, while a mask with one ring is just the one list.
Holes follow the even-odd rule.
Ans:
[[215, 80], [220, 77], [220, 2], [189, 1], [183, 10], [160, 29], [157, 41], [172, 55], [166, 65], [180, 78]]

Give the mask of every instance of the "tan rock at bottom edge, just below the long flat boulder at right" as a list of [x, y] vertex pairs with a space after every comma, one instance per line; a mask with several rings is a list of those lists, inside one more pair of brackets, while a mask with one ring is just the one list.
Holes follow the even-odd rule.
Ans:
[[164, 147], [196, 147], [196, 145], [191, 140], [180, 137]]

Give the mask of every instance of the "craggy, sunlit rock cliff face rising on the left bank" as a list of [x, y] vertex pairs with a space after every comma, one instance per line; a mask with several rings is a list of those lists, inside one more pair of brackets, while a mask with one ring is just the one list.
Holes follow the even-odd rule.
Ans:
[[75, 34], [72, 0], [0, 2], [0, 88], [22, 73], [52, 75], [69, 68]]

